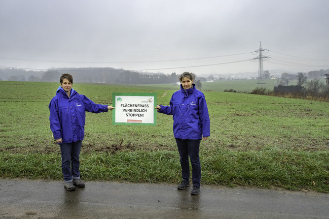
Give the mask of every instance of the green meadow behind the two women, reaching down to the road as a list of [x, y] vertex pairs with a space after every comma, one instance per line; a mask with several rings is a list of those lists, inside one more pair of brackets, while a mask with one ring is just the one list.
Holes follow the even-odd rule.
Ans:
[[[237, 91], [255, 88], [255, 83], [233, 82], [241, 88]], [[273, 88], [271, 83], [265, 85]], [[201, 183], [329, 192], [329, 103], [220, 92], [235, 89], [232, 85], [202, 84], [211, 136], [200, 145]], [[0, 81], [0, 177], [62, 179], [48, 109], [58, 86]], [[112, 93], [139, 92], [156, 93], [157, 103], [168, 105], [178, 86], [74, 83], [73, 89], [100, 104], [111, 105]], [[86, 113], [80, 156], [84, 180], [181, 180], [172, 116], [157, 114], [157, 126], [111, 121], [112, 112]]]

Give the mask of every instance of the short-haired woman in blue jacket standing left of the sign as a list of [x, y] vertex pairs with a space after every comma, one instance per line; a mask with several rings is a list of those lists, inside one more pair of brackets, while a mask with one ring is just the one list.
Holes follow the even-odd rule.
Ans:
[[74, 186], [84, 187], [84, 183], [80, 180], [79, 155], [84, 137], [85, 111], [108, 112], [114, 107], [95, 104], [85, 95], [74, 91], [71, 74], [62, 74], [60, 83], [61, 86], [49, 103], [50, 129], [54, 139], [61, 146], [64, 187], [68, 191], [73, 191]]

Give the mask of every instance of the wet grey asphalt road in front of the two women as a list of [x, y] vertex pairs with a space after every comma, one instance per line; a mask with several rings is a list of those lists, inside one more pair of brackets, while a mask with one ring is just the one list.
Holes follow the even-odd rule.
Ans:
[[329, 194], [261, 188], [0, 179], [0, 219], [311, 219], [329, 218]]

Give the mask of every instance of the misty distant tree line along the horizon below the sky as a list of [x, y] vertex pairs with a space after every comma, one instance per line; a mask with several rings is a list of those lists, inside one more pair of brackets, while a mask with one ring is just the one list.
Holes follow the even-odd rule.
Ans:
[[[64, 71], [63, 71], [64, 69]], [[56, 68], [49, 69], [47, 71], [26, 71], [23, 69], [15, 68], [0, 68], [0, 79], [9, 81], [42, 81], [42, 82], [57, 82], [62, 73], [70, 73], [73, 75], [74, 82], [94, 82], [94, 83], [114, 83], [114, 84], [160, 84], [160, 83], [176, 83], [178, 82], [178, 76], [176, 72], [166, 75], [164, 73], [153, 72], [137, 72], [128, 71], [124, 69], [115, 68], [100, 68], [100, 67], [88, 67], [88, 68]], [[301, 73], [307, 79], [324, 78], [325, 74], [329, 73], [327, 70], [314, 70], [308, 73], [298, 72], [297, 74], [282, 73], [281, 85], [288, 85], [292, 80], [296, 80], [299, 73]], [[263, 79], [270, 78], [270, 72], [265, 70], [262, 75]], [[200, 82], [213, 80], [214, 76], [210, 75], [206, 77], [196, 77]], [[220, 78], [224, 79], [224, 78]], [[219, 80], [220, 80], [219, 79]], [[300, 78], [302, 79], [302, 78]], [[299, 79], [298, 79], [299, 80]], [[302, 82], [302, 81], [300, 81]], [[306, 80], [305, 82], [306, 83]], [[197, 86], [199, 87], [199, 86]]]

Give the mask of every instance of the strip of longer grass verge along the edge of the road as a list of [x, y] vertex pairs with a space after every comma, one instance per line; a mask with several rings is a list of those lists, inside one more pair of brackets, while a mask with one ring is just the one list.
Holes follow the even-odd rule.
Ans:
[[[307, 188], [329, 192], [329, 152], [292, 151], [279, 148], [237, 152], [200, 152], [202, 184], [271, 186], [292, 190]], [[177, 183], [181, 180], [176, 151], [134, 151], [80, 156], [84, 180]], [[62, 179], [60, 154], [0, 153], [0, 176]]]

